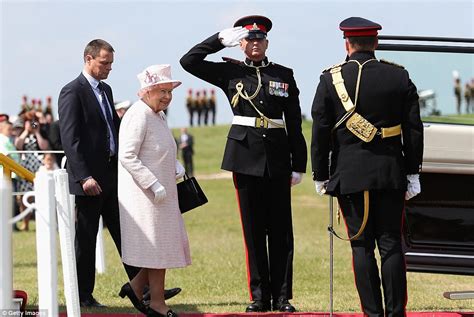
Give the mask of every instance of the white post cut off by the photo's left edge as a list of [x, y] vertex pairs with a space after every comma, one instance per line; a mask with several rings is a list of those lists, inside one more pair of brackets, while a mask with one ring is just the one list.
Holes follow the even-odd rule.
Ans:
[[0, 309], [12, 309], [12, 226], [8, 222], [12, 214], [12, 184], [3, 173], [0, 180], [0, 204]]

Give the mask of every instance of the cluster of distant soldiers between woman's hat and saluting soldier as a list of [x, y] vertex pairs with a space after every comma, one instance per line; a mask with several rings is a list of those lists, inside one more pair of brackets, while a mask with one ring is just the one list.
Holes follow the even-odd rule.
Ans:
[[216, 94], [214, 89], [210, 90], [209, 95], [206, 89], [195, 90], [188, 89], [186, 97], [186, 109], [189, 114], [189, 125], [215, 125], [216, 124]]

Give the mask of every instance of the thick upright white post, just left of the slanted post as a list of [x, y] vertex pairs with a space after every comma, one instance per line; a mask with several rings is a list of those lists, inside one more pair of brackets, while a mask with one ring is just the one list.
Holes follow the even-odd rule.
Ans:
[[58, 316], [58, 264], [56, 257], [56, 202], [52, 173], [35, 177], [36, 250], [39, 311]]

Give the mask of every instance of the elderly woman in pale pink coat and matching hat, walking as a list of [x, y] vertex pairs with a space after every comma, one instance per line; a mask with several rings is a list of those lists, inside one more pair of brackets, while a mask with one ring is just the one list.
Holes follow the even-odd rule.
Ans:
[[[178, 206], [176, 180], [184, 175], [176, 142], [163, 112], [181, 82], [169, 65], [153, 65], [138, 74], [140, 100], [122, 119], [119, 134], [118, 197], [122, 261], [142, 268], [122, 287], [147, 316], [177, 316], [164, 300], [166, 269], [191, 264], [188, 237]], [[142, 302], [150, 286], [149, 306]]]

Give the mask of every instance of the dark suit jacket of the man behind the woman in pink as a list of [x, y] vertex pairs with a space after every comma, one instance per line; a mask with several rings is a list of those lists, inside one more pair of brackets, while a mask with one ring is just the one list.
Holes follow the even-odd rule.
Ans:
[[[109, 103], [113, 105], [112, 89], [105, 83], [104, 86]], [[80, 181], [88, 176], [92, 176], [102, 190], [116, 189], [117, 168], [109, 163], [107, 123], [94, 91], [82, 73], [63, 87], [58, 108], [71, 194], [84, 195]], [[120, 119], [113, 109], [112, 116], [118, 133]]]

